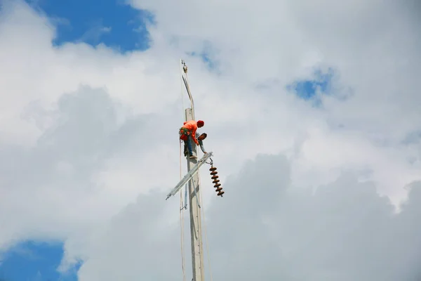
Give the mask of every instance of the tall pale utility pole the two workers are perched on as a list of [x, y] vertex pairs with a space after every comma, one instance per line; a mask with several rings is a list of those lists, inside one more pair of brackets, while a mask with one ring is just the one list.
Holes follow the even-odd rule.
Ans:
[[[182, 80], [185, 84], [187, 93], [189, 94], [190, 107], [185, 110], [185, 121], [194, 120], [194, 102], [192, 93], [190, 92], [189, 82], [187, 80], [187, 66], [185, 62], [182, 63]], [[196, 157], [197, 148], [196, 145], [192, 145], [193, 155]], [[187, 171], [189, 172], [197, 164], [196, 159], [190, 159], [187, 157]], [[203, 244], [201, 237], [201, 211], [200, 211], [200, 183], [199, 183], [199, 171], [197, 171], [192, 179], [189, 181], [189, 204], [190, 204], [190, 235], [192, 240], [192, 281], [204, 281], [204, 270], [203, 270]]]

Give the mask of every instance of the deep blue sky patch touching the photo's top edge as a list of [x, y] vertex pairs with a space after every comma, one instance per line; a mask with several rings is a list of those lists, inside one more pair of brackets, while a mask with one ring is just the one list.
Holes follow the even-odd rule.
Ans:
[[54, 44], [104, 43], [121, 52], [149, 47], [145, 23], [153, 23], [153, 15], [131, 8], [123, 0], [27, 0], [27, 3], [53, 18], [58, 27]]

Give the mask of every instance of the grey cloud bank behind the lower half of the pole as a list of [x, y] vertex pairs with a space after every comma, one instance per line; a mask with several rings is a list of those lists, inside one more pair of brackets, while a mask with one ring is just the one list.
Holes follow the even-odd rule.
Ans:
[[[290, 169], [284, 155], [259, 155], [227, 179], [225, 197], [213, 196], [205, 214], [215, 280], [420, 277], [420, 182], [395, 214], [375, 185], [359, 183], [355, 174], [313, 193], [293, 188]], [[178, 223], [163, 223], [177, 209], [168, 211], [164, 197], [138, 197], [93, 237], [80, 280], [181, 280]], [[206, 255], [205, 264], [209, 274]]]

